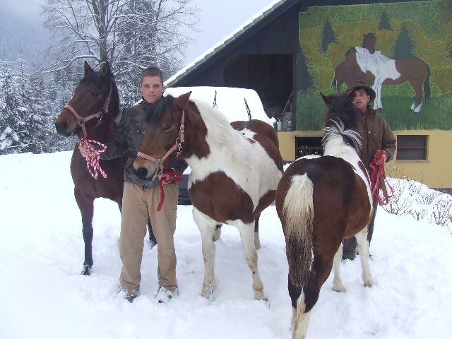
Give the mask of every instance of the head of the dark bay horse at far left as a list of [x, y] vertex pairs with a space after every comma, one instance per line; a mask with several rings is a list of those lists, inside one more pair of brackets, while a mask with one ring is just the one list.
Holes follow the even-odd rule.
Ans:
[[75, 94], [61, 109], [55, 128], [62, 136], [74, 134], [87, 138], [94, 126], [114, 121], [119, 114], [119, 95], [114, 76], [106, 61], [100, 71], [94, 71], [85, 61], [85, 73]]

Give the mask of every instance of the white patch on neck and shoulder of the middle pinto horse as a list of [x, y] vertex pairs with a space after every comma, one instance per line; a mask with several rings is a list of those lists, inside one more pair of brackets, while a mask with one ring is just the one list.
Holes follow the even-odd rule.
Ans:
[[[282, 172], [261, 144], [254, 140], [252, 131], [234, 130], [218, 109], [203, 101], [193, 101], [208, 129], [206, 142], [210, 154], [201, 159], [196, 156], [186, 159], [191, 167], [189, 187], [213, 172], [225, 172], [249, 194], [256, 208], [263, 194], [276, 189]], [[255, 142], [250, 143], [248, 139]]]

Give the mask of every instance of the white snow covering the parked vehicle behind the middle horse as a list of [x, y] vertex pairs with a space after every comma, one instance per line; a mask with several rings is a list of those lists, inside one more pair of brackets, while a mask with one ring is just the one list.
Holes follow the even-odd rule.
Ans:
[[[255, 90], [248, 88], [232, 88], [232, 87], [173, 87], [167, 88], [164, 95], [172, 95], [178, 97], [184, 93], [191, 91], [190, 98], [203, 100], [209, 105], [213, 105], [216, 95], [217, 108], [225, 114], [228, 121], [249, 120], [246, 104], [249, 107], [251, 119], [265, 121], [273, 126], [275, 118], [269, 118], [263, 110], [263, 105], [259, 95]], [[246, 103], [245, 103], [246, 100]]]

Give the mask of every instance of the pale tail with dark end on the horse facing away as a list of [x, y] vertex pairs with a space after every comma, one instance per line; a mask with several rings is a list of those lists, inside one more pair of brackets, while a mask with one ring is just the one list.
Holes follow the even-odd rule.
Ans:
[[290, 282], [307, 284], [312, 262], [312, 229], [314, 225], [314, 184], [307, 174], [295, 175], [284, 199], [286, 255]]

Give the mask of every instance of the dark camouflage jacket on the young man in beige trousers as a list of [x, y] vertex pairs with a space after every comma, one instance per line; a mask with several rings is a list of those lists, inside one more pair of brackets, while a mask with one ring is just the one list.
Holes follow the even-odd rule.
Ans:
[[[100, 155], [100, 159], [109, 160], [115, 157], [122, 157], [127, 153], [129, 157], [127, 158], [126, 168], [124, 169], [124, 181], [141, 184], [143, 188], [153, 188], [159, 184], [157, 178], [150, 182], [141, 180], [136, 176], [132, 167], [136, 159], [136, 153], [138, 153], [138, 147], [145, 133], [145, 118], [148, 112], [152, 114], [152, 110], [153, 104], [149, 104], [145, 100], [124, 109], [117, 133], [111, 141], [105, 144], [107, 145], [107, 150]], [[171, 167], [179, 174], [182, 174], [187, 166], [186, 161], [183, 159], [175, 159], [171, 164]], [[172, 184], [175, 183], [175, 180], [173, 180]]]

